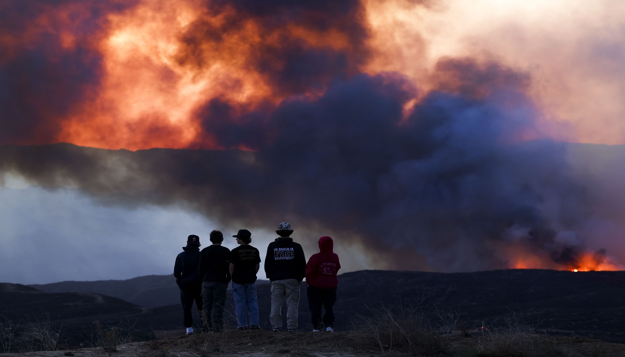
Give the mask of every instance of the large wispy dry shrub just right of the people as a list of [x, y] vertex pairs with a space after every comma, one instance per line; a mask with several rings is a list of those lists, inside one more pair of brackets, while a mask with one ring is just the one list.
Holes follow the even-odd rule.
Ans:
[[357, 316], [351, 338], [356, 345], [386, 351], [404, 350], [412, 356], [446, 353], [446, 337], [429, 328], [420, 308], [391, 306], [369, 308], [372, 316]]

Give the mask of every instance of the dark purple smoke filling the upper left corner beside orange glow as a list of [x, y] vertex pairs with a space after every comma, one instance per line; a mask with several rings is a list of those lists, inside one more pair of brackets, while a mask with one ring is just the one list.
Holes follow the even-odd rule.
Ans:
[[[133, 1], [2, 1], [0, 143], [54, 142], [74, 105], [94, 95], [101, 54], [93, 47], [106, 15]], [[63, 44], [62, 32], [75, 37]]]

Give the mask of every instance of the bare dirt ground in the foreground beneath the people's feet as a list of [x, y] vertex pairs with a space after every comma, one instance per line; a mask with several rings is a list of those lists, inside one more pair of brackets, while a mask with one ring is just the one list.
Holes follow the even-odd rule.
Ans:
[[[302, 356], [302, 357], [374, 357], [374, 356], [409, 356], [409, 351], [389, 346], [376, 346], [371, 343], [357, 343], [362, 336], [357, 331], [337, 333], [272, 333], [268, 331], [229, 331], [226, 333], [196, 334], [175, 336], [164, 340], [134, 342], [119, 345], [112, 351], [115, 357], [266, 357], [266, 356]], [[544, 356], [566, 357], [622, 357], [625, 345], [592, 340], [582, 337], [553, 337], [559, 352]], [[452, 351], [448, 356], [485, 356], [462, 352], [474, 350], [478, 342], [475, 338], [456, 336], [449, 340]], [[382, 350], [383, 349], [383, 350]], [[103, 348], [83, 348], [68, 351], [41, 351], [29, 353], [9, 353], [3, 356], [109, 356]], [[510, 356], [510, 355], [505, 355]]]

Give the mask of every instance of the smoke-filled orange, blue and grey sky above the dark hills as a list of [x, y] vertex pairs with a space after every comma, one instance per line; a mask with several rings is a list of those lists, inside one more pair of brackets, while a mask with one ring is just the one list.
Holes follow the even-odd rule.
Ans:
[[625, 262], [621, 1], [15, 0], [0, 49], [0, 281], [284, 221], [342, 271]]

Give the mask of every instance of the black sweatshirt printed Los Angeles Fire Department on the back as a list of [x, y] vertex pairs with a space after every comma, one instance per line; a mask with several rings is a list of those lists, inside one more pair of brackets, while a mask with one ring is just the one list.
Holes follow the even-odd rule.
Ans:
[[276, 238], [269, 243], [265, 257], [265, 273], [269, 280], [304, 280], [306, 257], [299, 243], [293, 238]]

